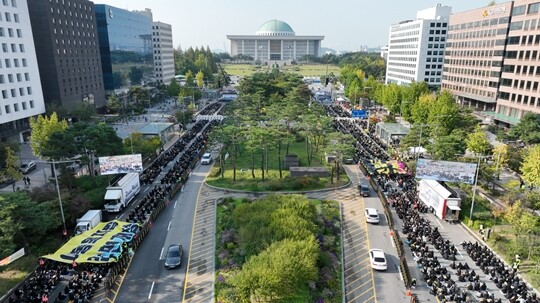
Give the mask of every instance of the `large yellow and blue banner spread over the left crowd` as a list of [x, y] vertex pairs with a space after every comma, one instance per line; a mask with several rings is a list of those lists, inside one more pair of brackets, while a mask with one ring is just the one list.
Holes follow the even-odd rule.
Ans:
[[140, 225], [122, 221], [101, 222], [95, 228], [71, 238], [54, 254], [43, 258], [63, 263], [111, 263], [122, 255], [124, 243], [139, 233]]

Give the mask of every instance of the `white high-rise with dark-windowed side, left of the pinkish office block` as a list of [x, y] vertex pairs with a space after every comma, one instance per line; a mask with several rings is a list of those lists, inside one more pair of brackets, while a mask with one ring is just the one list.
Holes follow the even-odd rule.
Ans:
[[448, 20], [452, 8], [437, 4], [418, 11], [416, 20], [390, 27], [386, 84], [427, 82], [440, 87]]

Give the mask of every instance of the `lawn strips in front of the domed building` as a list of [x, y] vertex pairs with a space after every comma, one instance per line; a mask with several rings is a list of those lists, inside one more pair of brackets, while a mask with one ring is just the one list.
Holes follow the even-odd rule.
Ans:
[[[269, 72], [272, 70], [271, 66], [256, 66], [252, 64], [222, 64], [225, 72], [229, 75], [236, 76], [251, 76], [256, 72]], [[280, 68], [284, 72], [297, 73], [302, 76], [322, 76], [330, 73], [339, 76], [340, 68], [336, 65], [326, 64], [301, 64], [301, 65], [287, 65]]]

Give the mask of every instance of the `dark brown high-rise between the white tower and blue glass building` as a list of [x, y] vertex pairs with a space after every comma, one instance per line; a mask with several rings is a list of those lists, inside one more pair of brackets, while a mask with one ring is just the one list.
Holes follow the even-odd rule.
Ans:
[[28, 0], [46, 103], [106, 105], [94, 3]]

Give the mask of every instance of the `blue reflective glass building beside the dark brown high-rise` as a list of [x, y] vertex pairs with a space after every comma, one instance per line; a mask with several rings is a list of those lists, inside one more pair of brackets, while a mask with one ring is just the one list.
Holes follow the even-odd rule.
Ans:
[[107, 94], [153, 78], [152, 12], [96, 4], [96, 22]]

